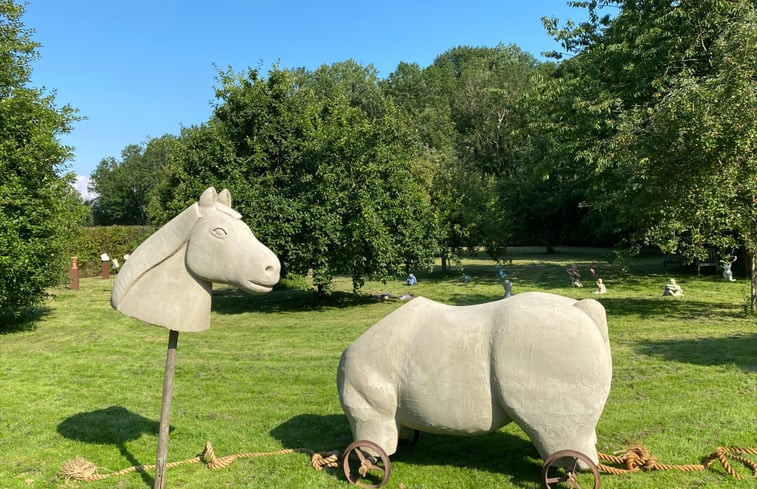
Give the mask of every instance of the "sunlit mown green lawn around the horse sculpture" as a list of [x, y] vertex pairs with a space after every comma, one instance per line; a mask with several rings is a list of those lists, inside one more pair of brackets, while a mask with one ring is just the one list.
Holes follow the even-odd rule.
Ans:
[[[745, 314], [745, 277], [727, 283], [682, 267], [666, 272], [655, 253], [621, 268], [606, 261], [607, 250], [559, 251], [514, 249], [505, 270], [514, 293], [595, 297], [606, 307], [613, 385], [597, 427], [599, 451], [643, 443], [661, 463], [697, 464], [718, 446], [757, 447], [757, 319]], [[592, 262], [606, 295], [592, 296]], [[569, 287], [566, 269], [573, 263], [582, 270], [582, 289]], [[211, 329], [179, 337], [168, 460], [194, 457], [206, 440], [218, 456], [343, 450], [352, 439], [336, 389], [339, 356], [402, 305], [371, 296], [412, 291], [455, 305], [502, 296], [491, 261], [469, 257], [463, 264], [470, 283], [437, 270], [416, 274], [412, 290], [399, 280], [368, 282], [358, 298], [340, 279], [326, 302], [304, 290], [246, 296], [217, 287]], [[684, 297], [661, 296], [668, 277], [682, 285]], [[79, 291], [53, 291], [35, 321], [0, 328], [0, 489], [152, 487], [152, 471], [94, 482], [58, 476], [77, 455], [101, 473], [155, 463], [168, 332], [112, 310], [111, 285], [83, 279]], [[482, 437], [422, 434], [392, 456], [386, 487], [538, 488], [541, 465], [515, 425]], [[169, 469], [167, 481], [170, 488], [352, 487], [341, 470], [317, 472], [301, 453], [218, 470], [183, 465]], [[602, 476], [610, 489], [752, 484], [721, 467]]]

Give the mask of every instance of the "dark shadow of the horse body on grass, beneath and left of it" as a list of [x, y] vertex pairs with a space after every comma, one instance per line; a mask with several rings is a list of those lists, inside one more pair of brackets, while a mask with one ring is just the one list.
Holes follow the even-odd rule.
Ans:
[[[286, 448], [343, 451], [352, 443], [344, 415], [301, 414], [280, 424], [271, 435]], [[449, 436], [421, 433], [418, 442], [400, 446], [392, 461], [423, 466], [455, 466], [503, 474], [520, 483], [539, 480], [541, 458], [525, 438], [501, 431], [483, 436]], [[330, 469], [343, 477], [341, 467]]]

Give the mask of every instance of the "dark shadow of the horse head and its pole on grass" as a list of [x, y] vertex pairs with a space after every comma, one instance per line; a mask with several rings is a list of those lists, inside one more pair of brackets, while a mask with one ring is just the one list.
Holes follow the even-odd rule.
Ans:
[[[85, 443], [114, 445], [121, 456], [133, 466], [146, 465], [126, 448], [126, 442], [136, 440], [143, 434], [155, 435], [159, 421], [152, 421], [132, 413], [122, 406], [110, 406], [97, 411], [78, 413], [64, 419], [57, 428], [64, 437]], [[169, 428], [172, 431], [172, 428]], [[152, 464], [153, 462], [150, 462]], [[144, 470], [138, 471], [145, 484], [153, 486], [155, 479]]]

